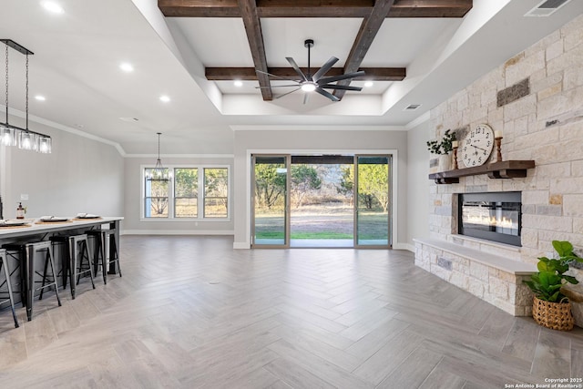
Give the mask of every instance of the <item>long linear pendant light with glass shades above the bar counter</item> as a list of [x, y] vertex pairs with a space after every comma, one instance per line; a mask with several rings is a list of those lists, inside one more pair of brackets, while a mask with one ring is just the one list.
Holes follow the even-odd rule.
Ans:
[[[39, 153], [48, 154], [52, 152], [52, 139], [48, 135], [41, 134], [28, 129], [28, 56], [35, 53], [25, 46], [18, 45], [12, 39], [0, 39], [5, 44], [5, 107], [6, 121], [0, 122], [0, 144], [4, 146], [18, 146], [20, 149], [33, 150]], [[8, 123], [8, 79], [9, 79], [9, 47], [26, 56], [26, 128], [19, 128]]]

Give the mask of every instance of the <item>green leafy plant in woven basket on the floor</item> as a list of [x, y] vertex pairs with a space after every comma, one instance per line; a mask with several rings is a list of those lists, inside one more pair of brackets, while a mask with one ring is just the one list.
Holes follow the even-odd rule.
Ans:
[[570, 262], [583, 262], [583, 259], [573, 252], [573, 245], [568, 241], [553, 241], [553, 248], [558, 258], [538, 258], [538, 272], [531, 274], [530, 280], [524, 282], [535, 293], [532, 306], [535, 322], [554, 330], [572, 330], [575, 320], [571, 304], [561, 292], [561, 287], [567, 282], [578, 283], [575, 277], [565, 272]]

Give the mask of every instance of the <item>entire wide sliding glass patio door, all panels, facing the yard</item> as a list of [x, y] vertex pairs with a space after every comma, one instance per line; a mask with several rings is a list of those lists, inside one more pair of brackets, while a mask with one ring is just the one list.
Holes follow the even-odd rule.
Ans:
[[388, 249], [391, 156], [253, 155], [251, 246]]

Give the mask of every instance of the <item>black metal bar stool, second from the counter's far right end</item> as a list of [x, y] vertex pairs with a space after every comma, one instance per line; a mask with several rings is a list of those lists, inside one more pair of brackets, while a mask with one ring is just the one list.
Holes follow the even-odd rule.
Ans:
[[[63, 254], [61, 256], [63, 288], [66, 288], [66, 277], [69, 276], [69, 288], [71, 298], [75, 300], [76, 285], [81, 281], [81, 275], [88, 273], [91, 279], [91, 285], [95, 289], [93, 281], [93, 263], [89, 256], [87, 234], [79, 235], [55, 235], [49, 238], [53, 245], [62, 244]], [[87, 269], [83, 270], [83, 262], [87, 260]], [[46, 269], [45, 269], [46, 271]]]

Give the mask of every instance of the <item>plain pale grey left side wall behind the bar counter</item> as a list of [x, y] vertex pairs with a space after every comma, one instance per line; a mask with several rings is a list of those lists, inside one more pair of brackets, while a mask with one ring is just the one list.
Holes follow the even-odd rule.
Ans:
[[[10, 123], [18, 118], [11, 118]], [[52, 154], [0, 147], [0, 192], [6, 219], [15, 218], [21, 194], [26, 217], [75, 216], [78, 212], [123, 216], [123, 158], [113, 146], [31, 123], [53, 138]], [[123, 223], [122, 223], [123, 228]]]

